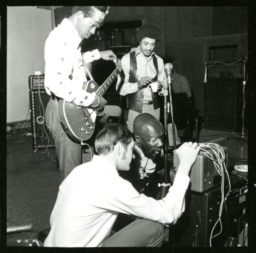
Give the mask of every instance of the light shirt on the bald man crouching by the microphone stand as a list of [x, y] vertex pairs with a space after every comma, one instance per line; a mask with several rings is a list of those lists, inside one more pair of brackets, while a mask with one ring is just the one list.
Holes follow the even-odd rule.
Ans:
[[143, 151], [137, 145], [134, 146], [133, 151], [137, 158], [139, 158], [139, 173], [141, 179], [143, 179], [147, 173], [153, 173], [155, 171], [155, 163], [152, 159], [144, 156]]

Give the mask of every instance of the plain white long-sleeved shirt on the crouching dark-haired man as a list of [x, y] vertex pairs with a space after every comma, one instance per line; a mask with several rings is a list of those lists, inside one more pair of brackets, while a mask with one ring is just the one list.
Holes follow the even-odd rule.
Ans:
[[189, 177], [177, 172], [164, 199], [139, 194], [105, 158], [77, 166], [59, 187], [46, 247], [98, 247], [109, 237], [119, 212], [175, 223], [184, 211]]

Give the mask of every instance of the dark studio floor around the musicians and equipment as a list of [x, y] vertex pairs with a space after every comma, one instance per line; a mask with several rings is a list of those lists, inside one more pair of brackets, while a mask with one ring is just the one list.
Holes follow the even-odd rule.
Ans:
[[[7, 136], [7, 223], [33, 224], [33, 230], [22, 235], [36, 238], [40, 230], [50, 227], [60, 177], [55, 149], [34, 153], [29, 133], [29, 128], [20, 128]], [[236, 133], [202, 129], [199, 142], [220, 137], [229, 139], [229, 166], [239, 160], [247, 163], [247, 140]]]

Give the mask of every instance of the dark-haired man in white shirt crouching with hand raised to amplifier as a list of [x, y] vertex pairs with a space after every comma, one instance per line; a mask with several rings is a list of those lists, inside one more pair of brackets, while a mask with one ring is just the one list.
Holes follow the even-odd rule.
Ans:
[[[155, 140], [154, 140], [155, 141]], [[188, 176], [200, 147], [178, 148], [180, 164], [174, 183], [162, 200], [140, 194], [118, 171], [128, 171], [134, 135], [119, 124], [107, 124], [95, 138], [91, 162], [77, 166], [65, 178], [51, 214], [46, 247], [159, 247], [165, 224], [175, 224], [185, 209]], [[158, 151], [153, 151], [156, 153]], [[110, 236], [119, 213], [140, 217]]]

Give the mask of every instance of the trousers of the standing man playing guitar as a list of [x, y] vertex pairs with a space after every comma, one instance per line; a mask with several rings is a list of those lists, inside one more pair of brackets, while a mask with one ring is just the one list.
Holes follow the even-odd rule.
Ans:
[[46, 106], [46, 125], [54, 139], [62, 182], [74, 167], [82, 163], [82, 146], [64, 132], [55, 99], [50, 98]]

